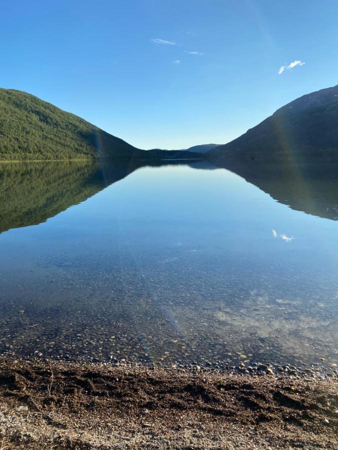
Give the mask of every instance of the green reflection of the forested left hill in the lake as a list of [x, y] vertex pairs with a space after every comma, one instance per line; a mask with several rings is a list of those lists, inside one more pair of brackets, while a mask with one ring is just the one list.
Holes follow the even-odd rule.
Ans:
[[[187, 165], [213, 168], [206, 161]], [[139, 161], [0, 163], [0, 233], [44, 222], [140, 167]]]

